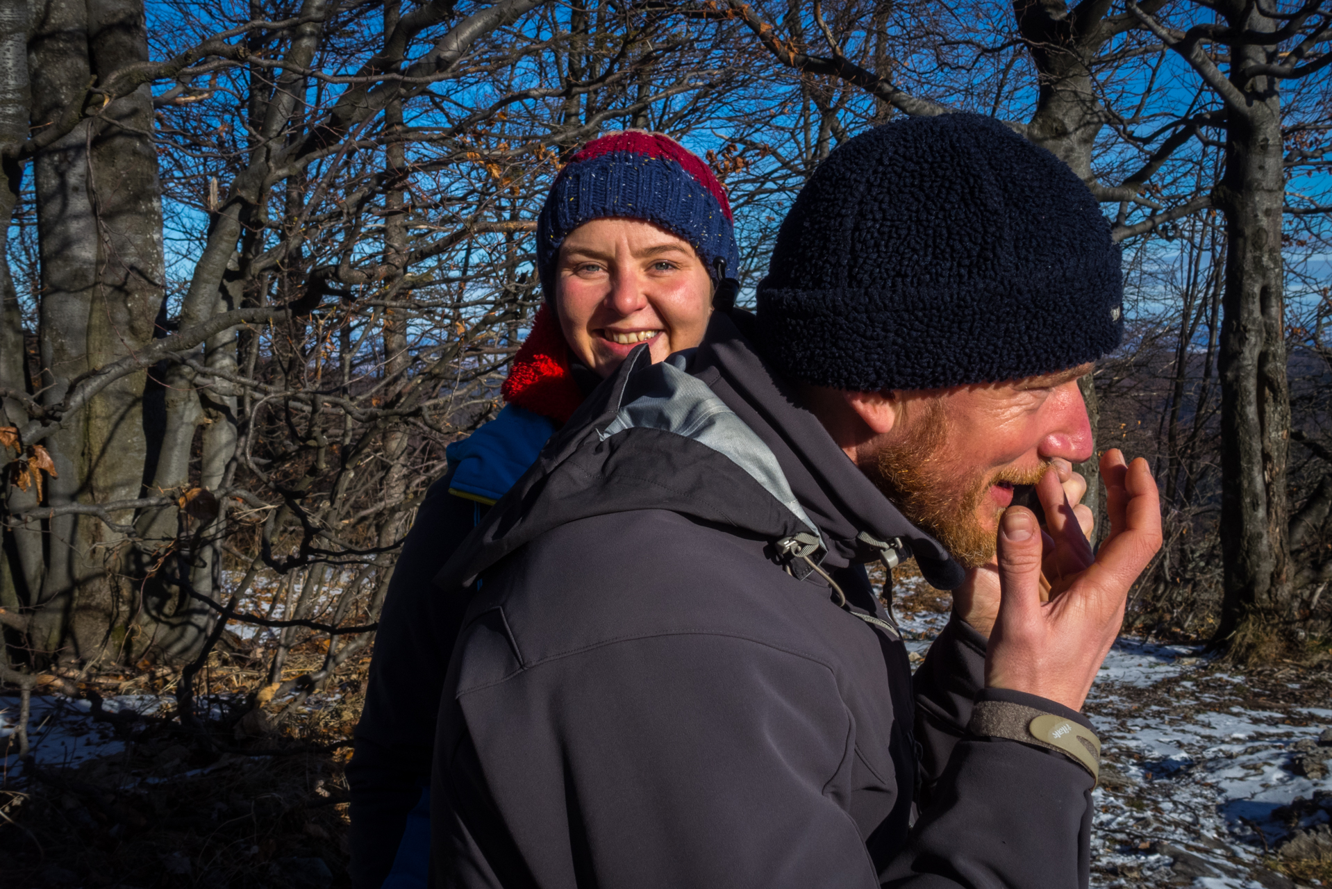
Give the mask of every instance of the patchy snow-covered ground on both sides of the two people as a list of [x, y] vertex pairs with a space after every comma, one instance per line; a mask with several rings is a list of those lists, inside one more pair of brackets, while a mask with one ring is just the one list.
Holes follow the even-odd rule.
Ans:
[[[914, 592], [910, 581], [899, 586], [898, 621], [912, 662], [919, 662], [947, 620], [936, 610], [947, 602], [920, 608], [911, 601]], [[336, 697], [309, 698], [301, 709]], [[148, 716], [174, 709], [174, 701], [119, 696], [103, 706]], [[133, 724], [95, 721], [89, 709], [88, 701], [33, 697], [29, 737], [40, 764], [77, 765], [124, 752]], [[1328, 673], [1283, 668], [1245, 677], [1219, 669], [1195, 646], [1126, 637], [1106, 658], [1086, 712], [1104, 744], [1102, 786], [1094, 794], [1094, 886], [1295, 885], [1264, 862], [1293, 830], [1329, 822]], [[17, 716], [19, 698], [0, 697], [5, 769], [15, 765], [16, 748], [5, 745]]]

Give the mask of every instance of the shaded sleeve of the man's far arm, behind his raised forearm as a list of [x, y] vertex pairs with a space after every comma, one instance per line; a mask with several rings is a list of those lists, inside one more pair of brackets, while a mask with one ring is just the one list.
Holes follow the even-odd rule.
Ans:
[[920, 800], [928, 805], [952, 748], [971, 721], [971, 704], [986, 684], [986, 637], [954, 614], [912, 677]]

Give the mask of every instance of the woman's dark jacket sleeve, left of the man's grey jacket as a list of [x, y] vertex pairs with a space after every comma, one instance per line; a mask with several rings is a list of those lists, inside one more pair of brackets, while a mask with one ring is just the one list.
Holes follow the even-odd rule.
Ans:
[[478, 508], [485, 510], [450, 494], [452, 477], [426, 492], [380, 614], [356, 752], [346, 766], [354, 889], [380, 889], [408, 813], [430, 782], [440, 690], [466, 606], [465, 597], [444, 596], [432, 578], [472, 530]]

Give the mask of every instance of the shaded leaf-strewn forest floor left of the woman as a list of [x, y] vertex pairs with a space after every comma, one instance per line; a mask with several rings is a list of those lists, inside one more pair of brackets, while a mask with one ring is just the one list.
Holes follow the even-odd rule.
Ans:
[[[322, 658], [293, 656], [292, 674]], [[17, 765], [11, 749], [0, 776], [0, 885], [350, 886], [342, 769], [366, 668], [368, 658], [340, 669], [326, 694], [270, 700], [241, 716], [240, 689], [256, 673], [217, 665], [200, 702], [206, 742], [181, 729], [169, 678], [151, 673], [85, 677], [79, 690], [100, 694], [100, 708], [33, 696], [33, 764]], [[17, 716], [19, 697], [0, 696], [0, 736], [12, 740]]]

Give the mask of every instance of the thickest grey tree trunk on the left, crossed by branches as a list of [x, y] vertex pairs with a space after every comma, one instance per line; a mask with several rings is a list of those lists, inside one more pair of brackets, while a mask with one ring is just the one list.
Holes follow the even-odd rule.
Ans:
[[[43, 0], [29, 43], [32, 123], [43, 125], [108, 77], [148, 60], [141, 0]], [[43, 399], [68, 381], [145, 347], [163, 303], [161, 201], [147, 85], [88, 117], [37, 155], [43, 295]], [[148, 452], [140, 372], [104, 388], [45, 441], [59, 476], [47, 502], [101, 504], [139, 496]], [[113, 520], [128, 524], [127, 510]], [[48, 522], [47, 570], [32, 640], [59, 657], [121, 653], [129, 625], [124, 536], [93, 516]], [[109, 648], [108, 648], [109, 644]]]

